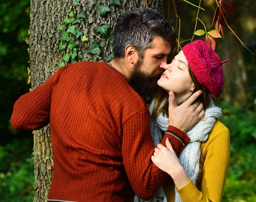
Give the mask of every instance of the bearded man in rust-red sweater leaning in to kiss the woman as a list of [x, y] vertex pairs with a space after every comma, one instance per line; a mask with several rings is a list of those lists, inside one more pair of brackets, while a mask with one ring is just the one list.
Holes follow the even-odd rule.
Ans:
[[[128, 11], [116, 23], [111, 64], [67, 65], [15, 102], [15, 130], [50, 123], [54, 173], [49, 201], [121, 202], [127, 178], [143, 200], [160, 187], [167, 174], [151, 162], [150, 113], [131, 85], [138, 92], [156, 86], [175, 38], [171, 26], [153, 9]], [[190, 105], [198, 96], [170, 106], [172, 126], [162, 143], [169, 137], [177, 154], [189, 141], [183, 132], [204, 115], [200, 103]]]

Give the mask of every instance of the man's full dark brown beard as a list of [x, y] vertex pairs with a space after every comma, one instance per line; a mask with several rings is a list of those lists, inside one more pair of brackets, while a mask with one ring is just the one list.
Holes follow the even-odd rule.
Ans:
[[134, 71], [131, 74], [131, 86], [134, 90], [145, 99], [145, 97], [153, 98], [160, 88], [157, 81], [163, 74], [164, 69], [158, 68], [152, 74], [146, 74], [141, 71], [143, 60], [139, 59], [134, 66]]

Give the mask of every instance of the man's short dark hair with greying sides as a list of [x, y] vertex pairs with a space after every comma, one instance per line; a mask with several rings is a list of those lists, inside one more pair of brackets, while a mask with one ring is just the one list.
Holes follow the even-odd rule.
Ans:
[[113, 31], [113, 52], [116, 60], [125, 57], [125, 46], [131, 45], [141, 58], [145, 50], [152, 47], [154, 37], [162, 37], [167, 43], [176, 39], [168, 22], [158, 11], [139, 8], [127, 11], [117, 19]]

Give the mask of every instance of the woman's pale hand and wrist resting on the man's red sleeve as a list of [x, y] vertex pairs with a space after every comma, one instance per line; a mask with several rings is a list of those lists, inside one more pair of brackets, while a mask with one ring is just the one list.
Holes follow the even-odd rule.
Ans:
[[158, 144], [151, 159], [158, 168], [172, 177], [177, 189], [181, 189], [189, 183], [190, 179], [184, 168], [180, 165], [180, 161], [172, 148], [169, 138], [166, 139], [166, 147]]

